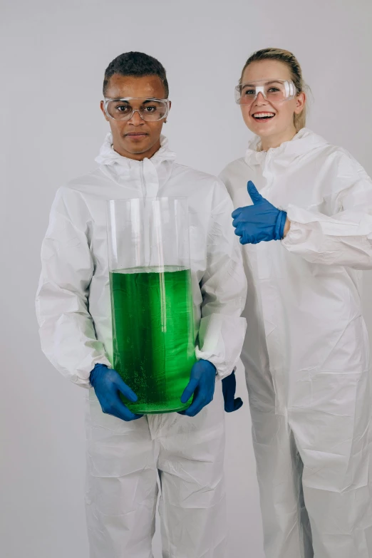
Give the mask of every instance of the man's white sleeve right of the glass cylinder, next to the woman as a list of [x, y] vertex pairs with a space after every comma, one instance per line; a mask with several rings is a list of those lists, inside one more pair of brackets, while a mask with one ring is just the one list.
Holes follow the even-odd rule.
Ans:
[[197, 358], [212, 362], [228, 376], [242, 351], [246, 320], [241, 317], [247, 294], [242, 255], [232, 227], [232, 201], [217, 182], [207, 238], [207, 269], [202, 278], [202, 319]]

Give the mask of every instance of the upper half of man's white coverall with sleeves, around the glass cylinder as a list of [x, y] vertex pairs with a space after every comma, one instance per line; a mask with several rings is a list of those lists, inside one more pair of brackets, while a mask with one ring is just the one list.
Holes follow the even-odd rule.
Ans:
[[244, 339], [246, 284], [223, 185], [177, 165], [165, 138], [140, 162], [118, 155], [108, 134], [97, 161], [97, 170], [58, 190], [51, 210], [36, 299], [44, 353], [86, 387], [95, 363], [112, 361], [105, 200], [187, 196], [197, 357], [228, 375]]

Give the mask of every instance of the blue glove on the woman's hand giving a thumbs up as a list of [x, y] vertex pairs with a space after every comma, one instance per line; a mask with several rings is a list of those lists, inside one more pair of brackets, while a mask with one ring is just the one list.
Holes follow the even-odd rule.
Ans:
[[281, 240], [284, 237], [286, 212], [278, 210], [264, 199], [252, 180], [247, 184], [253, 205], [239, 207], [232, 212], [235, 234], [241, 244], [258, 244], [262, 240]]

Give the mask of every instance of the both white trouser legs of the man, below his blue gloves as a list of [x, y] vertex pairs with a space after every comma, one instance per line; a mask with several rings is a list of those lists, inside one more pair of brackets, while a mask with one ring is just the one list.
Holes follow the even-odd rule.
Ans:
[[227, 558], [224, 402], [194, 418], [169, 413], [131, 423], [87, 400], [86, 516], [90, 558], [153, 558], [157, 477], [163, 558]]

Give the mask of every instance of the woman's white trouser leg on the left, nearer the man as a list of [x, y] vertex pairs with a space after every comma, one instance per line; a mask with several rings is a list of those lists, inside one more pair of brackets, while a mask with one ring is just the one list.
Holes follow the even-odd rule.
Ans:
[[302, 463], [286, 417], [251, 405], [266, 558], [312, 558]]

